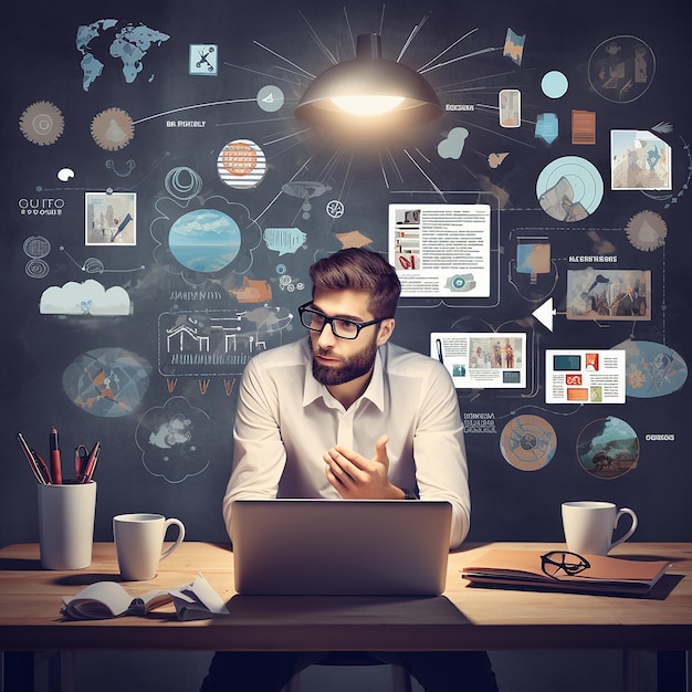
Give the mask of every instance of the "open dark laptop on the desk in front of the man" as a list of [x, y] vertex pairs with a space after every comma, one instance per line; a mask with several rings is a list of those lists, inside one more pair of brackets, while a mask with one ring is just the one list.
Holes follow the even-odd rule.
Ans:
[[271, 596], [438, 596], [445, 501], [237, 500], [235, 590]]

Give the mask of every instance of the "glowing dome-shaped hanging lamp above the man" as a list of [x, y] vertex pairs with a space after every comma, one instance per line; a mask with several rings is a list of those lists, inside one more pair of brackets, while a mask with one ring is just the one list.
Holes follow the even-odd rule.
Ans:
[[359, 35], [356, 59], [318, 75], [295, 109], [308, 125], [360, 135], [419, 125], [441, 114], [437, 94], [418, 72], [382, 59], [378, 34]]

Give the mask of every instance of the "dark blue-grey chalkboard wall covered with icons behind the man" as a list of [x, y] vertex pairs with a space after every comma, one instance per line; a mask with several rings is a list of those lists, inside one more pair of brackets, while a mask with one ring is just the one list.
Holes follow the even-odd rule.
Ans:
[[[38, 538], [15, 433], [48, 452], [51, 424], [67, 462], [75, 444], [103, 444], [98, 539], [128, 511], [224, 539], [237, 384], [256, 350], [302, 336], [310, 264], [346, 244], [387, 252], [389, 205], [462, 198], [493, 209], [490, 295], [403, 298], [395, 340], [430, 353], [431, 333], [526, 335], [526, 387], [459, 388], [471, 538], [557, 541], [562, 501], [605, 499], [637, 510], [640, 539], [692, 539], [686, 14], [673, 2], [591, 6], [4, 8], [0, 544]], [[508, 30], [521, 60], [505, 55]], [[431, 67], [445, 112], [406, 141], [364, 150], [307, 129], [293, 109], [310, 75], [352, 57], [353, 38], [369, 32], [381, 33], [385, 57], [406, 49], [401, 62]], [[546, 94], [552, 71], [564, 94]], [[500, 126], [502, 90], [521, 92], [518, 127]], [[591, 144], [573, 140], [573, 112], [595, 115]], [[557, 133], [537, 137], [553, 117]], [[463, 151], [444, 158], [438, 145], [454, 128]], [[670, 189], [612, 190], [611, 130], [656, 135]], [[256, 179], [219, 174], [231, 143], [258, 157]], [[581, 161], [587, 187], [594, 170], [602, 181], [574, 221], [537, 198], [542, 171], [563, 157]], [[209, 214], [230, 260], [185, 254], [186, 222], [210, 229]], [[534, 237], [549, 243], [551, 264], [532, 283], [516, 256]], [[589, 268], [643, 272], [647, 318], [569, 318], [568, 276]], [[547, 349], [626, 342], [625, 402], [546, 403]], [[612, 421], [632, 432], [629, 457], [611, 445], [615, 465], [586, 468], [584, 444]]]

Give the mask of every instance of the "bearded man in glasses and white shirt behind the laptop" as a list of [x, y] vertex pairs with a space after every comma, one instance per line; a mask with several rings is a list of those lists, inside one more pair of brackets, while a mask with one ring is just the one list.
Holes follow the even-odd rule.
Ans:
[[[308, 337], [255, 356], [243, 374], [233, 429], [233, 502], [262, 497], [447, 500], [450, 547], [469, 531], [463, 426], [437, 360], [389, 343], [400, 293], [379, 254], [342, 250], [311, 266], [298, 308]], [[280, 690], [319, 657], [217, 653], [202, 692]], [[429, 692], [496, 692], [483, 652], [378, 654]], [[298, 662], [301, 659], [301, 662]]]

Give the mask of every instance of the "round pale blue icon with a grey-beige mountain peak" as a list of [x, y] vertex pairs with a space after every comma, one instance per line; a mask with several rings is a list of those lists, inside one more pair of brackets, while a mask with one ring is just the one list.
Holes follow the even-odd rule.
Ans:
[[604, 179], [585, 158], [563, 156], [541, 171], [536, 196], [543, 210], [554, 219], [581, 221], [598, 209], [604, 198]]

